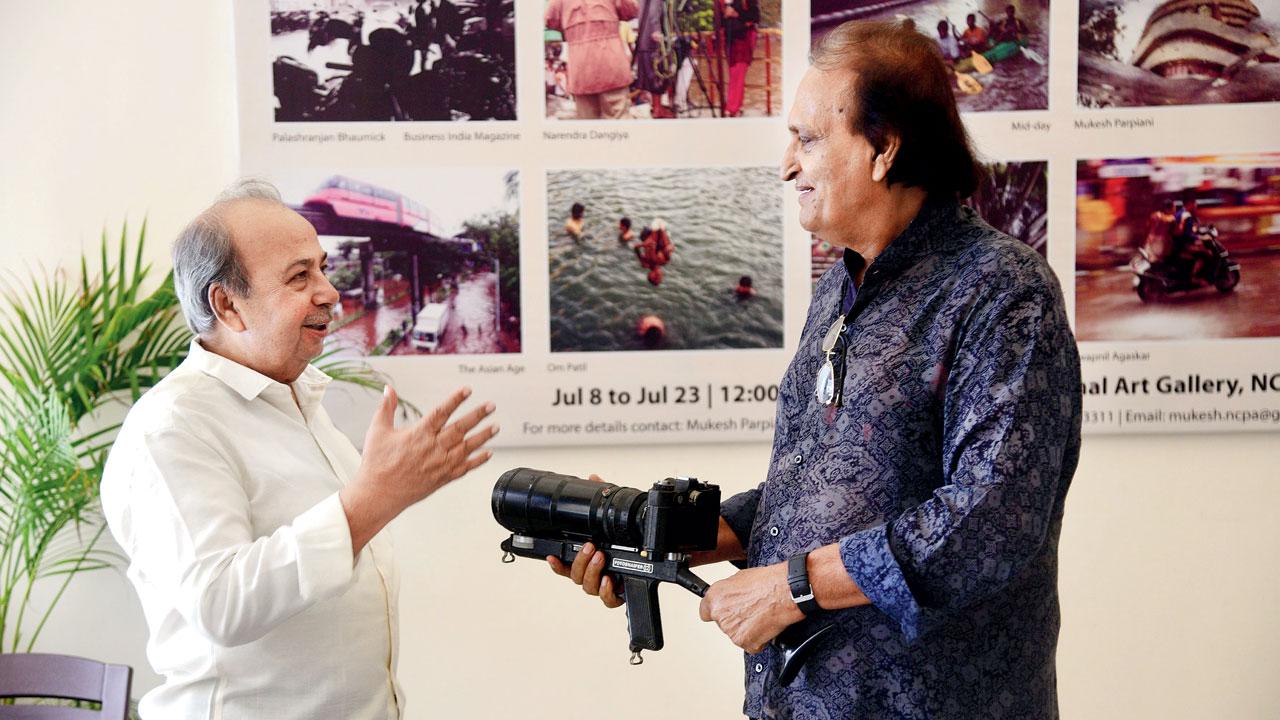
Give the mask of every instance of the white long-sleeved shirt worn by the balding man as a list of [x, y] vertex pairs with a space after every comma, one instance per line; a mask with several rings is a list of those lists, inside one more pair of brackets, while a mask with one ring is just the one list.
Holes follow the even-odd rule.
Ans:
[[165, 682], [151, 719], [399, 717], [389, 533], [352, 562], [338, 489], [360, 454], [320, 405], [191, 343], [129, 411], [102, 507]]

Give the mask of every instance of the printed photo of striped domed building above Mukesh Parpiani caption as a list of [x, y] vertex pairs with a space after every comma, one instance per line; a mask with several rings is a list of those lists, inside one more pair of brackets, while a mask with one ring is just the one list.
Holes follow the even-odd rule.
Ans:
[[1280, 0], [1080, 0], [1084, 108], [1280, 100]]

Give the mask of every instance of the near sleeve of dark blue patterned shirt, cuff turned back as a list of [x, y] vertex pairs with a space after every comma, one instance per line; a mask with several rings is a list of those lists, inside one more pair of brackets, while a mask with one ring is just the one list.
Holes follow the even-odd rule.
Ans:
[[909, 641], [998, 592], [1041, 552], [1075, 462], [1080, 366], [1061, 296], [998, 295], [972, 316], [950, 368], [942, 486], [840, 543], [850, 577]]

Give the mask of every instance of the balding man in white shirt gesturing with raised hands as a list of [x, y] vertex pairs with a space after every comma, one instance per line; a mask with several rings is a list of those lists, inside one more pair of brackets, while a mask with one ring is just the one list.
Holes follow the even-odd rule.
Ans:
[[242, 182], [173, 250], [191, 354], [129, 411], [102, 507], [165, 680], [143, 719], [401, 717], [398, 579], [406, 507], [489, 459], [485, 404], [460, 389], [394, 427], [388, 387], [364, 457], [308, 363], [338, 293], [315, 229]]

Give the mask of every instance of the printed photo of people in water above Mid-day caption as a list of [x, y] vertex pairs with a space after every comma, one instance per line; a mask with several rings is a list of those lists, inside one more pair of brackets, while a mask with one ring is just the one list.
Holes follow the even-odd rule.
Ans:
[[1048, 0], [812, 0], [810, 44], [847, 20], [901, 20], [938, 44], [961, 113], [1048, 108]]

